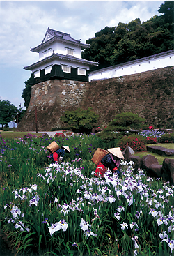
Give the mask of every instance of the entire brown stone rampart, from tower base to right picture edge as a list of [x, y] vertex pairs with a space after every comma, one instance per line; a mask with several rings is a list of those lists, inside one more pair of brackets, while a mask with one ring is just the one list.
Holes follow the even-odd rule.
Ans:
[[174, 69], [159, 68], [143, 73], [92, 82], [49, 80], [32, 86], [31, 100], [18, 130], [35, 130], [35, 105], [38, 130], [61, 127], [65, 110], [93, 107], [99, 115], [97, 126], [106, 126], [116, 114], [133, 112], [156, 128], [174, 125]]

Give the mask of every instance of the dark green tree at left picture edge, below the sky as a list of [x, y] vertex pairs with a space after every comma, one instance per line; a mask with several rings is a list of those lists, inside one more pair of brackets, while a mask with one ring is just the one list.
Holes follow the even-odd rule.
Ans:
[[0, 99], [0, 123], [2, 127], [8, 126], [8, 123], [14, 120], [18, 111], [15, 105], [10, 104], [10, 101]]

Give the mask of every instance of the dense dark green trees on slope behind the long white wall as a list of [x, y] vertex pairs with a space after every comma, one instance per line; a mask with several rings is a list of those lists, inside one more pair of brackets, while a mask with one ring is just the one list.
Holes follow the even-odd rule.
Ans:
[[158, 10], [163, 15], [155, 15], [146, 22], [136, 18], [128, 24], [120, 22], [116, 27], [96, 32], [95, 38], [86, 40], [90, 48], [82, 52], [82, 57], [99, 62], [99, 66], [93, 68], [99, 69], [172, 50], [173, 3], [165, 1]]

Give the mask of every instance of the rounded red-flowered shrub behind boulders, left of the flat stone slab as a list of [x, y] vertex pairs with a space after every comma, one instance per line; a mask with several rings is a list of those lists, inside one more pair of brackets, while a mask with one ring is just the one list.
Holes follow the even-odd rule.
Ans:
[[134, 151], [144, 151], [145, 150], [145, 138], [139, 135], [130, 135], [122, 137], [118, 143], [122, 151], [125, 150], [127, 146], [130, 146]]

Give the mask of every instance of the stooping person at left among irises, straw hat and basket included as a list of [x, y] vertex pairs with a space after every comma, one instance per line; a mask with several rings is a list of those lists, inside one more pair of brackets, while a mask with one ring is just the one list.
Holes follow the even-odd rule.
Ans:
[[69, 146], [61, 146], [61, 148], [58, 146], [56, 142], [52, 142], [47, 146], [47, 149], [49, 150], [50, 155], [49, 158], [52, 158], [54, 162], [61, 163], [63, 160], [63, 156], [65, 156], [65, 153], [70, 153]]

